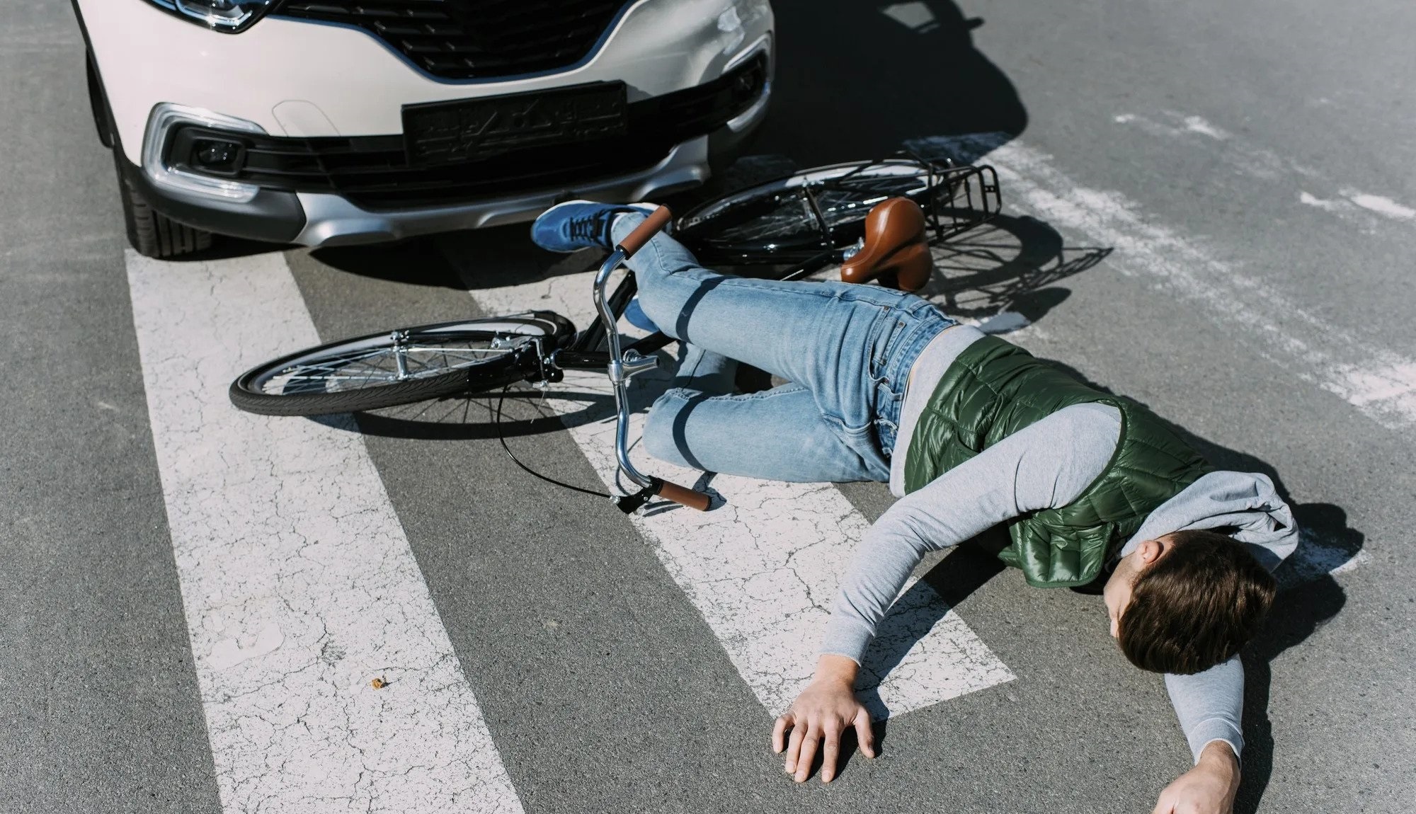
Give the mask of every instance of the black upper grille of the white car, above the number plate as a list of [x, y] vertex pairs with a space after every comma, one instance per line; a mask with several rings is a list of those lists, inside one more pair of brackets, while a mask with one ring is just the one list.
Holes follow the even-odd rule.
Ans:
[[595, 50], [624, 0], [286, 0], [275, 13], [362, 28], [442, 79], [555, 71]]

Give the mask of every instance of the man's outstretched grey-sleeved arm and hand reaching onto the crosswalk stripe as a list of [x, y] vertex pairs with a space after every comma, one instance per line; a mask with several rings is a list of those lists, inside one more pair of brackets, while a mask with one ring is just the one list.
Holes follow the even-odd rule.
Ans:
[[[797, 781], [807, 779], [818, 749], [821, 780], [830, 781], [841, 732], [869, 732], [869, 715], [851, 682], [879, 620], [920, 558], [1022, 512], [1070, 503], [1106, 469], [1120, 426], [1116, 408], [1065, 408], [939, 476], [881, 515], [841, 579], [816, 677], [777, 718], [772, 733], [773, 749], [786, 750], [786, 770]], [[864, 735], [861, 747], [874, 755]]]

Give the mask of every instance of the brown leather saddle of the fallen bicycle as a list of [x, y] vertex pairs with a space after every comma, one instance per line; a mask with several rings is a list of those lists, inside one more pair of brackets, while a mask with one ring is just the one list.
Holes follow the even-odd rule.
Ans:
[[841, 280], [879, 280], [889, 289], [918, 292], [935, 272], [925, 212], [909, 198], [886, 198], [865, 215], [865, 245], [841, 263]]

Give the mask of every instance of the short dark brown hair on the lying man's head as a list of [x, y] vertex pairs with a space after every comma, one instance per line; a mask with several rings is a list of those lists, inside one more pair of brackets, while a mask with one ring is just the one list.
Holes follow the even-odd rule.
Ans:
[[1273, 575], [1212, 531], [1167, 535], [1168, 551], [1136, 576], [1117, 641], [1131, 664], [1191, 674], [1239, 653], [1273, 604]]

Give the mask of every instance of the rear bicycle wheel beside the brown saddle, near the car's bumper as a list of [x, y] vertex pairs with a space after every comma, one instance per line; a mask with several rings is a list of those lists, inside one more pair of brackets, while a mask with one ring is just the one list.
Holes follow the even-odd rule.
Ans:
[[709, 265], [804, 263], [858, 241], [885, 198], [947, 205], [967, 171], [913, 157], [811, 167], [701, 204], [674, 235]]

